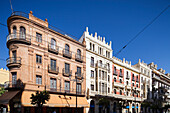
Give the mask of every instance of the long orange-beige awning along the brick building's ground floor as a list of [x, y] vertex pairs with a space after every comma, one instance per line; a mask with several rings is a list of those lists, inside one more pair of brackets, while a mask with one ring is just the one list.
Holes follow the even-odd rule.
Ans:
[[[35, 92], [24, 91], [22, 93], [21, 103], [23, 106], [33, 106], [31, 104], [31, 94]], [[76, 107], [76, 96], [64, 96], [59, 94], [50, 94], [50, 100], [44, 106], [49, 107]], [[86, 97], [77, 97], [77, 107], [89, 107]]]

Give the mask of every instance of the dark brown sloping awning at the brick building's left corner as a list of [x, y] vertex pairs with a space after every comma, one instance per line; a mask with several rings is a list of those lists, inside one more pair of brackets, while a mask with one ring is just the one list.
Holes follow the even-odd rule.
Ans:
[[19, 91], [9, 91], [0, 96], [0, 104], [8, 104], [9, 101], [18, 94]]

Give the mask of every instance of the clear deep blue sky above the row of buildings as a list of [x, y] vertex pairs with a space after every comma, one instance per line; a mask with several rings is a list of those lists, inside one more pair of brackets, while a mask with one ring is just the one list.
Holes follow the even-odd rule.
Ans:
[[[169, 0], [11, 0], [15, 11], [29, 13], [48, 19], [48, 22], [81, 37], [85, 27], [90, 33], [112, 41], [114, 53], [118, 52], [146, 24], [155, 18]], [[11, 14], [9, 0], [1, 0], [0, 23], [7, 23]], [[0, 58], [8, 57], [6, 35], [8, 29], [0, 26]], [[126, 58], [132, 64], [138, 59], [146, 63], [155, 62], [158, 68], [170, 72], [170, 8], [148, 29], [126, 47], [117, 57]], [[6, 62], [0, 61], [6, 68]]]

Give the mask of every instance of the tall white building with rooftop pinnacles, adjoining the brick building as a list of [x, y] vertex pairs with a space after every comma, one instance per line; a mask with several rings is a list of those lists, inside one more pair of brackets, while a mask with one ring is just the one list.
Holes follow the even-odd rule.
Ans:
[[[105, 37], [97, 33], [89, 34], [88, 27], [80, 38], [86, 41], [86, 91], [90, 108], [86, 113], [102, 113], [102, 106], [98, 105], [100, 97], [111, 94], [112, 89], [112, 48], [106, 43]], [[107, 110], [110, 112], [110, 110]]]

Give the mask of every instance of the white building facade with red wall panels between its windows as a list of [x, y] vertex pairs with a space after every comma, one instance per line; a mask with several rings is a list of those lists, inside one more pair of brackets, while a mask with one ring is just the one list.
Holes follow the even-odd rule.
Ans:
[[140, 72], [131, 61], [113, 57], [113, 113], [139, 113], [141, 108]]

